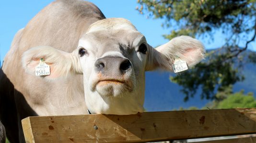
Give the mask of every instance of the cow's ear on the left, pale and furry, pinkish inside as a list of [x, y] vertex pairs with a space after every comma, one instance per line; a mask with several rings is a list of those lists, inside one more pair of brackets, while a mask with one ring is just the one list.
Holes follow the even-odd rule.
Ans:
[[44, 76], [47, 79], [68, 77], [75, 73], [82, 74], [80, 61], [75, 51], [69, 53], [49, 46], [31, 48], [23, 53], [23, 68], [26, 72], [35, 75], [35, 67], [43, 58], [44, 62], [50, 66], [50, 75]]

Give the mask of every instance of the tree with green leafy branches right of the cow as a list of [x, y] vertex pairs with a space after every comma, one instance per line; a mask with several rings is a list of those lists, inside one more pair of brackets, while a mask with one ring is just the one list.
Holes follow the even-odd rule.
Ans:
[[165, 20], [163, 27], [171, 31], [164, 38], [189, 35], [210, 37], [209, 42], [214, 42], [214, 33], [223, 33], [225, 44], [208, 51], [206, 60], [192, 70], [171, 77], [183, 86], [185, 101], [199, 88], [201, 98], [216, 99], [217, 92], [244, 80], [241, 73], [244, 62], [256, 63], [256, 53], [244, 53], [256, 40], [256, 0], [138, 0], [138, 3], [141, 14]]

